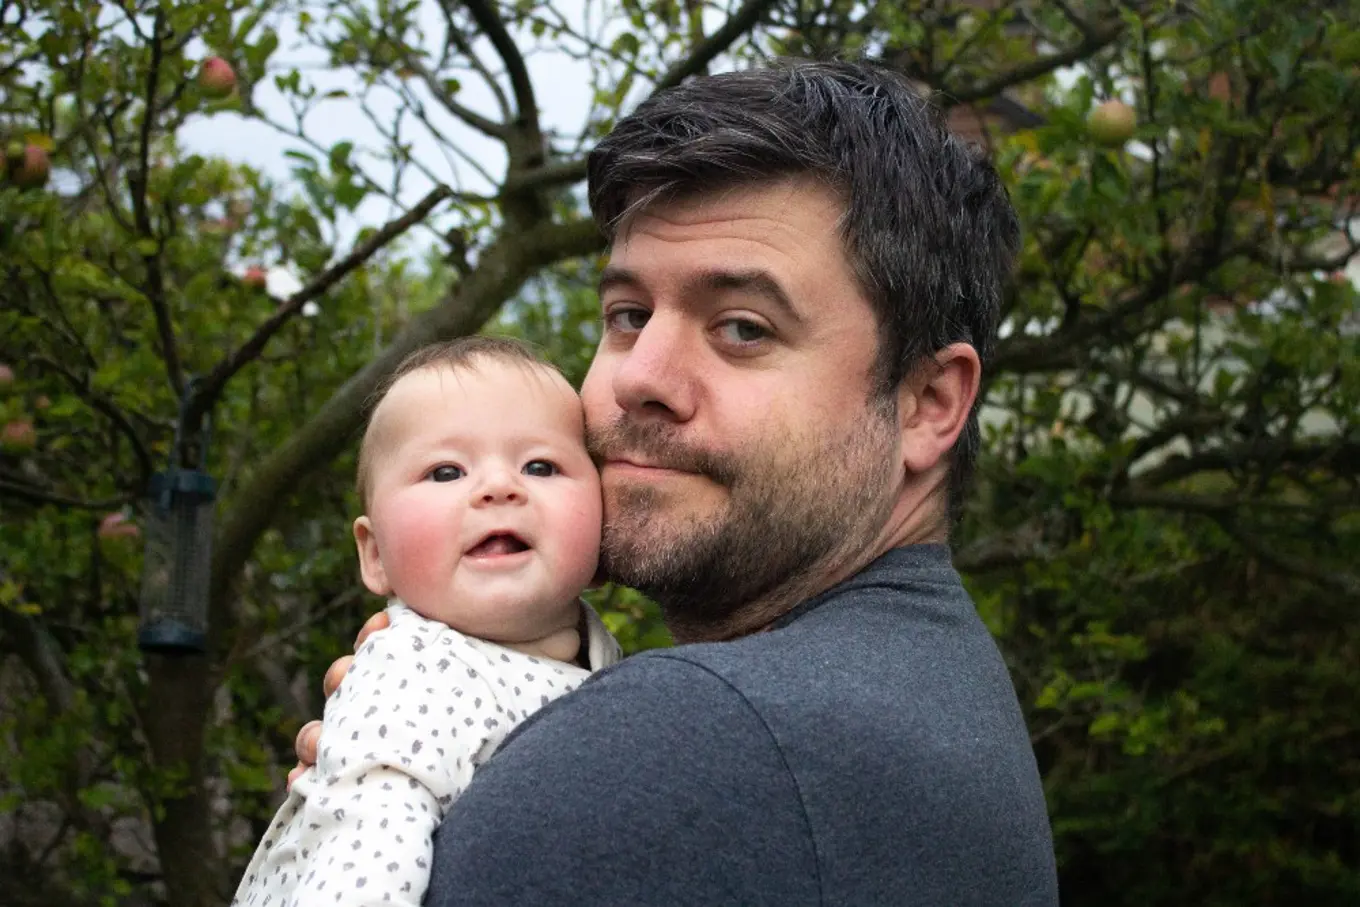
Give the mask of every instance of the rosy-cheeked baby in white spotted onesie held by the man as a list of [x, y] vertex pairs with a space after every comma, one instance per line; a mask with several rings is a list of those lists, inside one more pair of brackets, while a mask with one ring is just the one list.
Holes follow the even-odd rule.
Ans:
[[359, 449], [363, 583], [389, 596], [234, 904], [419, 904], [431, 836], [506, 734], [616, 662], [579, 598], [600, 477], [567, 381], [511, 340], [405, 359]]

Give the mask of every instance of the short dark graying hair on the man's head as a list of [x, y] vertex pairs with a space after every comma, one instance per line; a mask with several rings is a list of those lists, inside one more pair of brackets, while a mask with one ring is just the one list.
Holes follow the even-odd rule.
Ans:
[[[971, 343], [986, 371], [1020, 224], [986, 156], [898, 73], [785, 61], [662, 91], [590, 152], [590, 209], [613, 241], [657, 203], [790, 177], [845, 200], [846, 254], [879, 317], [880, 397], [951, 343]], [[975, 403], [952, 454], [955, 515], [981, 443]]]

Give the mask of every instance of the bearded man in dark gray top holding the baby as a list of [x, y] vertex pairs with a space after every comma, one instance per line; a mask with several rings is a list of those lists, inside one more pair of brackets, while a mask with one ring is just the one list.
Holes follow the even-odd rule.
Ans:
[[426, 903], [1055, 904], [947, 547], [1019, 246], [996, 173], [898, 78], [796, 63], [657, 95], [589, 186], [604, 568], [679, 645], [511, 736]]

